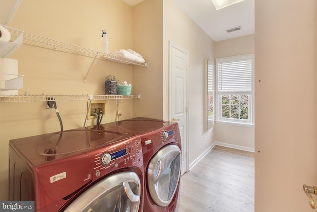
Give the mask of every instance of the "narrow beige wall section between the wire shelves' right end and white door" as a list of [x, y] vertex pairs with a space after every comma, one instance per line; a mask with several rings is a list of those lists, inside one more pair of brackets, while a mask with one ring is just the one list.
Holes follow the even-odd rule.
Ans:
[[140, 100], [133, 115], [163, 119], [163, 2], [145, 0], [133, 7], [133, 47], [147, 56], [148, 68], [135, 67], [133, 82]]

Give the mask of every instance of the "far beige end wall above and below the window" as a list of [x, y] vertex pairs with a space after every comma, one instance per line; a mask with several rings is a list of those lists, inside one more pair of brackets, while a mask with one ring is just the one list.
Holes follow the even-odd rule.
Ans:
[[[215, 58], [254, 53], [254, 37], [254, 35], [247, 35], [215, 42]], [[216, 99], [215, 109], [217, 110]], [[254, 126], [215, 122], [214, 127], [216, 142], [233, 148], [254, 151]]]

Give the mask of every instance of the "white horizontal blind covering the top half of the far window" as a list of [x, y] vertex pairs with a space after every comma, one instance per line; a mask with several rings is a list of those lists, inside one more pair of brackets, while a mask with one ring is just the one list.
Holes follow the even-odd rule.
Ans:
[[219, 94], [251, 94], [252, 58], [237, 61], [219, 59], [218, 92]]

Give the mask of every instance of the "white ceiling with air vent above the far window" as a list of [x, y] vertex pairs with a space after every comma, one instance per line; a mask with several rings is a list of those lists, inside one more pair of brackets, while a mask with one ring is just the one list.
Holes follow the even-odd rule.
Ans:
[[[254, 0], [216, 10], [211, 0], [174, 0], [213, 41], [254, 34]], [[227, 33], [227, 29], [241, 30]]]

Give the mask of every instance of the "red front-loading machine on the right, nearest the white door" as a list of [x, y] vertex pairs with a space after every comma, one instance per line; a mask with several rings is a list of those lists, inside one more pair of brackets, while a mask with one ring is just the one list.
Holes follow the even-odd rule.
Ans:
[[133, 118], [106, 129], [140, 135], [144, 161], [144, 212], [175, 212], [181, 174], [181, 137], [177, 123]]

